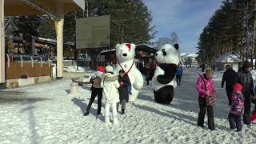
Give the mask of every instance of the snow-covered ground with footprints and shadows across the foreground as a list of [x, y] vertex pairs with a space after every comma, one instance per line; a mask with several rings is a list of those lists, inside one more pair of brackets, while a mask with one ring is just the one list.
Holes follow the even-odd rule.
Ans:
[[90, 86], [70, 95], [70, 79], [0, 91], [0, 143], [255, 143], [255, 124], [243, 126], [241, 133], [230, 130], [221, 72], [214, 72], [217, 130], [198, 127], [199, 70], [184, 73], [171, 105], [155, 103], [152, 86], [144, 86], [138, 100], [127, 104], [126, 114], [118, 114], [118, 126], [106, 126], [103, 116], [96, 117], [97, 102], [90, 115], [83, 116]]

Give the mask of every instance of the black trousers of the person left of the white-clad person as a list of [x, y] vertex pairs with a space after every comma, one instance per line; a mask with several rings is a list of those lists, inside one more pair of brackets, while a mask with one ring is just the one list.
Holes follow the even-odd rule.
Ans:
[[86, 108], [86, 113], [90, 112], [90, 107], [94, 102], [94, 99], [96, 98], [96, 96], [98, 95], [98, 114], [101, 114], [101, 110], [102, 110], [102, 88], [93, 88], [91, 90], [91, 96], [90, 96], [90, 102]]

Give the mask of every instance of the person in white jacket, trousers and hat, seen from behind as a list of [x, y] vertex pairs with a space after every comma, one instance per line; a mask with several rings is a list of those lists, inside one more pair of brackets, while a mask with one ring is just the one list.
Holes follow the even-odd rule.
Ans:
[[112, 66], [106, 66], [106, 74], [102, 74], [102, 88], [103, 98], [106, 101], [105, 104], [105, 122], [110, 123], [110, 106], [112, 107], [113, 124], [118, 124], [117, 118], [117, 102], [119, 102], [118, 94], [118, 76], [114, 76], [114, 70]]

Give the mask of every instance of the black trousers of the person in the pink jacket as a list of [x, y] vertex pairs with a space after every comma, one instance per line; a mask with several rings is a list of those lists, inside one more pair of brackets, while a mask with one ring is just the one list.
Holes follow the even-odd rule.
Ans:
[[214, 130], [214, 107], [206, 106], [206, 98], [198, 97], [200, 112], [198, 114], [198, 126], [203, 126], [206, 108], [207, 108], [207, 117], [208, 117], [208, 127], [210, 130]]

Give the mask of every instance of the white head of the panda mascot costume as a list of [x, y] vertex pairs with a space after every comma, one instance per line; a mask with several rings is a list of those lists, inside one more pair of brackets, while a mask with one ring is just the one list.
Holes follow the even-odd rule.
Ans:
[[174, 63], [178, 65], [180, 60], [180, 52], [178, 50], [178, 44], [174, 46], [171, 44], [165, 44], [155, 54], [155, 58], [158, 63]]

